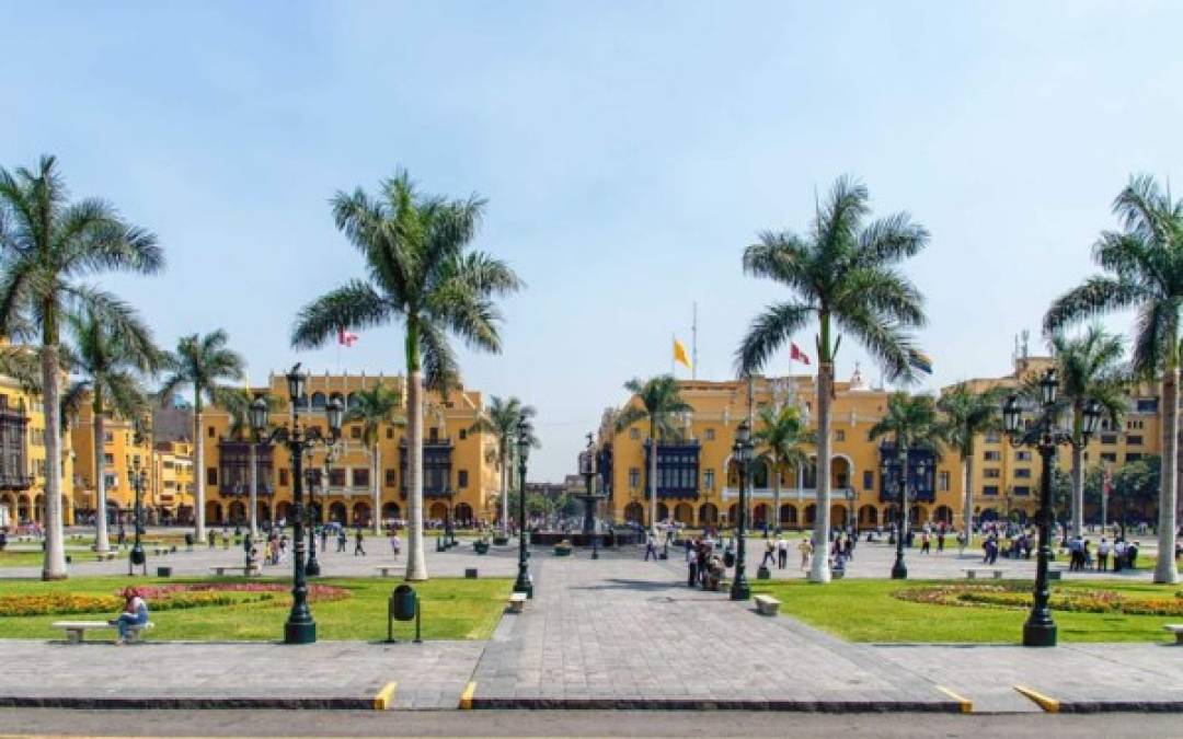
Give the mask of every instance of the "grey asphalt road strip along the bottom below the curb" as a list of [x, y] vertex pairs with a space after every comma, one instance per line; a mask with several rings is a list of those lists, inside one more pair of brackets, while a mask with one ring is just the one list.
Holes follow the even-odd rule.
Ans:
[[1177, 714], [942, 715], [552, 711], [64, 711], [2, 708], [2, 734], [386, 737], [1179, 737]]

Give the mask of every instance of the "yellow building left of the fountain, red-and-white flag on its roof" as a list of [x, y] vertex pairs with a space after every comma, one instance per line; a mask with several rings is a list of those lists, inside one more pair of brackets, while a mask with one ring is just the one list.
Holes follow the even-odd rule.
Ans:
[[[401, 376], [311, 375], [308, 397], [300, 404], [300, 421], [328, 433], [325, 408], [340, 398], [347, 408], [354, 393], [379, 383], [400, 390], [406, 403], [405, 378]], [[272, 422], [290, 417], [287, 385], [283, 375], [272, 375], [266, 387], [252, 388], [280, 401]], [[424, 518], [444, 521], [491, 521], [496, 517], [498, 473], [494, 465], [496, 440], [473, 432], [483, 413], [481, 394], [457, 389], [444, 400], [428, 394], [424, 421]], [[206, 434], [205, 468], [206, 521], [211, 525], [243, 524], [248, 520], [251, 490], [251, 436], [232, 433], [233, 419], [221, 408], [202, 414]], [[312, 454], [313, 513], [318, 520], [348, 525], [373, 525], [375, 513], [382, 520], [407, 516], [405, 427], [388, 424], [379, 433], [376, 455], [362, 443], [362, 424], [347, 422], [342, 440], [327, 465], [324, 447]], [[322, 485], [328, 467], [328, 485]], [[292, 480], [287, 449], [259, 445], [256, 448], [258, 485], [257, 514], [260, 521], [291, 518]], [[375, 506], [374, 484], [379, 504]], [[325, 490], [327, 487], [327, 490]], [[306, 487], [305, 487], [306, 491]]]

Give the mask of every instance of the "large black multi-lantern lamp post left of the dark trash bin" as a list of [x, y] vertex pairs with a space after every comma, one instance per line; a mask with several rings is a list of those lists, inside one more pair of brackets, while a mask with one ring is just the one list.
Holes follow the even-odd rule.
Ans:
[[308, 607], [308, 581], [304, 566], [304, 450], [315, 445], [329, 445], [341, 436], [341, 419], [344, 408], [341, 401], [329, 402], [329, 436], [319, 428], [303, 427], [299, 423], [299, 402], [305, 395], [308, 375], [299, 371], [297, 362], [287, 372], [287, 395], [291, 400], [291, 427], [280, 426], [270, 434], [267, 432], [267, 402], [261, 397], [251, 403], [251, 427], [254, 429], [256, 443], [266, 434], [267, 443], [283, 443], [287, 447], [292, 460], [292, 505], [295, 506], [295, 557], [292, 557], [292, 610], [284, 624], [284, 642], [289, 644], [311, 644], [316, 641], [316, 622]]

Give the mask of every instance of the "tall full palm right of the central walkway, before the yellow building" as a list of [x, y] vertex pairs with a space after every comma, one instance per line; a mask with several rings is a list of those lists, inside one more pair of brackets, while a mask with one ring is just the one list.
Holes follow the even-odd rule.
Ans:
[[[817, 317], [817, 516], [814, 545], [829, 540], [830, 401], [836, 331], [858, 338], [888, 378], [913, 377], [909, 329], [925, 323], [924, 299], [894, 266], [919, 253], [929, 232], [906, 213], [866, 223], [867, 188], [851, 177], [834, 183], [807, 235], [765, 232], [744, 251], [744, 271], [789, 289], [791, 298], [756, 317], [736, 352], [736, 369], [750, 376], [768, 363], [795, 331]], [[819, 550], [820, 551], [820, 550]], [[814, 557], [813, 582], [829, 582], [826, 557]]]

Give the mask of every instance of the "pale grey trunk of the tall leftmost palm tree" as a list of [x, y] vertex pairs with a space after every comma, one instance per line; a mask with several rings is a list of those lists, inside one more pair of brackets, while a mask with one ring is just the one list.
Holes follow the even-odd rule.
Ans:
[[[49, 323], [51, 319], [46, 319]], [[45, 563], [41, 579], [66, 578], [65, 530], [62, 516], [62, 408], [58, 396], [57, 331], [46, 331], [41, 345], [41, 410], [45, 414]]]

